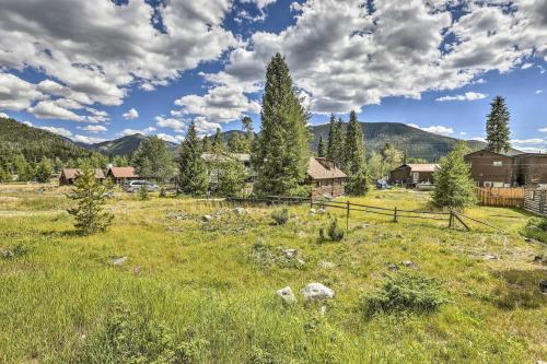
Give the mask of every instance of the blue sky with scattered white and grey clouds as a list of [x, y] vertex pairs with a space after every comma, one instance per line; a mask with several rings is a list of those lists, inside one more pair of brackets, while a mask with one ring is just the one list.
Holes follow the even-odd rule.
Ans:
[[77, 141], [258, 128], [282, 52], [313, 111], [462, 139], [507, 97], [547, 149], [547, 0], [0, 0], [0, 114]]

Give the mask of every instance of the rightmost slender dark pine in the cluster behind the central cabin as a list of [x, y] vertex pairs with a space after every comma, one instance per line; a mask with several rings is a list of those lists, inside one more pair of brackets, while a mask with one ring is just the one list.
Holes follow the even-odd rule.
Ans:
[[364, 157], [364, 139], [356, 111], [351, 111], [346, 133], [345, 166], [348, 174], [346, 189], [350, 195], [365, 195], [369, 190], [369, 171]]

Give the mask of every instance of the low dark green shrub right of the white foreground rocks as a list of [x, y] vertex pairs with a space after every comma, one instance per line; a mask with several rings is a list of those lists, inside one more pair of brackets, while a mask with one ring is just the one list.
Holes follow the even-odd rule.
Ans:
[[383, 287], [363, 298], [365, 315], [379, 312], [432, 313], [446, 302], [440, 282], [418, 273], [387, 277]]

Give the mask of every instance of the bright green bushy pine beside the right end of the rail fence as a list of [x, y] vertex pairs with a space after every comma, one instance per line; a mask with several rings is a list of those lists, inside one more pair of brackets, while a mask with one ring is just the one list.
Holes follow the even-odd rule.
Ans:
[[463, 209], [476, 202], [470, 166], [464, 160], [467, 152], [467, 145], [458, 142], [449, 155], [441, 158], [440, 167], [433, 175], [435, 181], [433, 202], [438, 207]]

